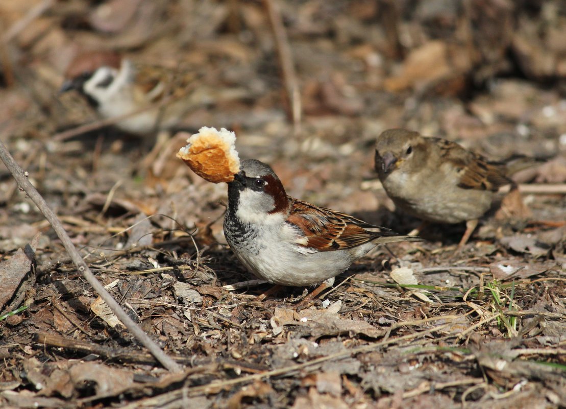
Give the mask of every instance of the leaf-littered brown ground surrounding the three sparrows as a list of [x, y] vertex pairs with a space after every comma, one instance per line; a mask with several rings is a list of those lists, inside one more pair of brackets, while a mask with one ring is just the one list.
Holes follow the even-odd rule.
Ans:
[[[0, 165], [1, 407], [566, 407], [564, 2], [19, 0], [0, 5], [0, 33], [2, 142], [98, 280], [183, 367], [163, 369], [117, 321]], [[213, 97], [179, 128], [234, 130], [240, 156], [271, 164], [290, 195], [401, 233], [419, 221], [372, 169], [385, 129], [544, 163], [517, 174], [520, 197], [461, 252], [464, 225], [431, 225], [422, 243], [372, 251], [309, 308], [296, 308], [304, 288], [259, 302], [269, 284], [248, 282], [222, 235], [226, 185], [175, 158], [183, 137], [148, 156], [155, 135], [66, 133], [100, 119], [58, 95], [85, 49], [192, 70]], [[393, 279], [400, 267], [417, 285]]]

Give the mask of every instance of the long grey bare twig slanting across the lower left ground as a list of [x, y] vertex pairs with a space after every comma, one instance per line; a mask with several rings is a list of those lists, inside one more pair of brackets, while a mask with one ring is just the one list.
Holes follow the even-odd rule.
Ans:
[[155, 342], [153, 342], [153, 340], [149, 338], [146, 333], [144, 333], [140, 326], [136, 324], [130, 318], [130, 316], [128, 316], [128, 314], [121, 308], [121, 306], [119, 306], [112, 295], [110, 295], [110, 293], [106, 291], [104, 286], [102, 286], [102, 284], [98, 282], [95, 275], [92, 274], [91, 269], [88, 268], [87, 264], [84, 262], [83, 258], [76, 250], [74, 244], [72, 244], [71, 238], [67, 235], [67, 232], [65, 231], [65, 228], [63, 228], [61, 221], [59, 221], [53, 210], [51, 210], [51, 208], [45, 202], [45, 199], [41, 197], [36, 188], [34, 188], [33, 185], [29, 182], [28, 173], [24, 172], [23, 169], [19, 167], [12, 155], [10, 155], [10, 152], [8, 152], [2, 140], [0, 140], [0, 159], [2, 159], [3, 163], [12, 173], [12, 176], [18, 183], [20, 189], [25, 191], [25, 193], [29, 196], [29, 198], [32, 199], [33, 203], [36, 204], [37, 208], [49, 221], [49, 224], [51, 224], [53, 230], [55, 231], [55, 233], [57, 233], [57, 236], [63, 242], [63, 246], [65, 246], [65, 249], [70, 255], [73, 263], [83, 274], [85, 280], [87, 280], [88, 283], [91, 284], [92, 288], [97, 292], [97, 294], [100, 295], [101, 299], [104, 300], [104, 302], [109, 306], [112, 312], [116, 314], [118, 319], [122, 321], [122, 323], [132, 333], [132, 335], [134, 335], [139, 340], [139, 342], [144, 344], [144, 346], [148, 348], [149, 352], [151, 352], [152, 355], [155, 356], [155, 358], [160, 361], [160, 363], [165, 368], [174, 372], [180, 372], [181, 367], [179, 367], [179, 365], [175, 363], [173, 359], [166, 355], [165, 352], [163, 352], [161, 348]]

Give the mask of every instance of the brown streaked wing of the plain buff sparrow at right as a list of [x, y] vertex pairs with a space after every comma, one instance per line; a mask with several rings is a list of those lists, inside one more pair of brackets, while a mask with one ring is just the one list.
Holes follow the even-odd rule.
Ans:
[[431, 138], [431, 142], [438, 146], [442, 161], [457, 173], [459, 188], [497, 191], [513, 183], [507, 177], [505, 163], [488, 161], [450, 140]]

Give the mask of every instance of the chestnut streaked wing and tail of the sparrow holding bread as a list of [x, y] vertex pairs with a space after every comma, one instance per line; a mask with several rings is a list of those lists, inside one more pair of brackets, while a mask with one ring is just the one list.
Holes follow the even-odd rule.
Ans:
[[[393, 242], [420, 240], [413, 236], [398, 236], [389, 229], [377, 227], [353, 216], [336, 212], [289, 197], [290, 214], [287, 223], [302, 235], [297, 244], [319, 252], [349, 249], [370, 241]], [[379, 228], [379, 232], [365, 228]]]

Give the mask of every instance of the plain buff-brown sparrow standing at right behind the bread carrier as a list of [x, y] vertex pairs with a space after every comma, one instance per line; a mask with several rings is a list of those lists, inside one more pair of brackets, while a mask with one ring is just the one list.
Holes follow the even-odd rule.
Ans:
[[461, 248], [510, 176], [529, 167], [525, 158], [488, 161], [459, 144], [425, 138], [405, 129], [389, 129], [375, 146], [375, 170], [395, 205], [436, 223], [466, 221]]

